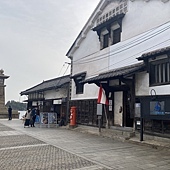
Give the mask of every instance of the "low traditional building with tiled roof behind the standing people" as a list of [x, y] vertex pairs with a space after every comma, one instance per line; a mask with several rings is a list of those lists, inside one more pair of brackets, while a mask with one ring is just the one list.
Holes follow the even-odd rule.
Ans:
[[69, 114], [69, 84], [70, 75], [66, 75], [43, 81], [20, 94], [27, 96], [25, 102], [28, 108], [36, 107], [40, 112], [55, 112], [59, 119], [62, 113]]

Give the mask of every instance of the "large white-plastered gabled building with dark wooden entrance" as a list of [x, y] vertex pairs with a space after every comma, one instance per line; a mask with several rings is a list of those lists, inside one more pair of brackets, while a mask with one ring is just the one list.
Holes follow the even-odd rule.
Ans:
[[[78, 107], [78, 123], [96, 125], [95, 105], [102, 84], [109, 99], [110, 126], [134, 126], [136, 100], [153, 89], [148, 61], [137, 58], [169, 46], [169, 12], [169, 0], [99, 2], [67, 53], [72, 60], [71, 102]], [[156, 94], [170, 94], [169, 83], [154, 86]]]

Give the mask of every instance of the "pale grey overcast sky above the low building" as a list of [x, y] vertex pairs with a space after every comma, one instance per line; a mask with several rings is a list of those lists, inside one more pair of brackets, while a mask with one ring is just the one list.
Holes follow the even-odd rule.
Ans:
[[69, 74], [66, 53], [99, 0], [0, 0], [0, 69], [5, 101], [43, 80]]

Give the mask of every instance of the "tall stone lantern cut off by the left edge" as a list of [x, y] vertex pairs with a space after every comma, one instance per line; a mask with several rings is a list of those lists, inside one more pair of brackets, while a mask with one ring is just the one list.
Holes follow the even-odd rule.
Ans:
[[0, 118], [7, 118], [8, 112], [5, 107], [5, 79], [9, 78], [9, 76], [4, 75], [4, 71], [0, 70]]

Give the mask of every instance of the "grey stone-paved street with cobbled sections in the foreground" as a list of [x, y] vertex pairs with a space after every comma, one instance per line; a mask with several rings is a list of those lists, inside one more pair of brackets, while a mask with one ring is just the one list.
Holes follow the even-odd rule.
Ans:
[[170, 151], [0, 120], [0, 170], [170, 170]]

